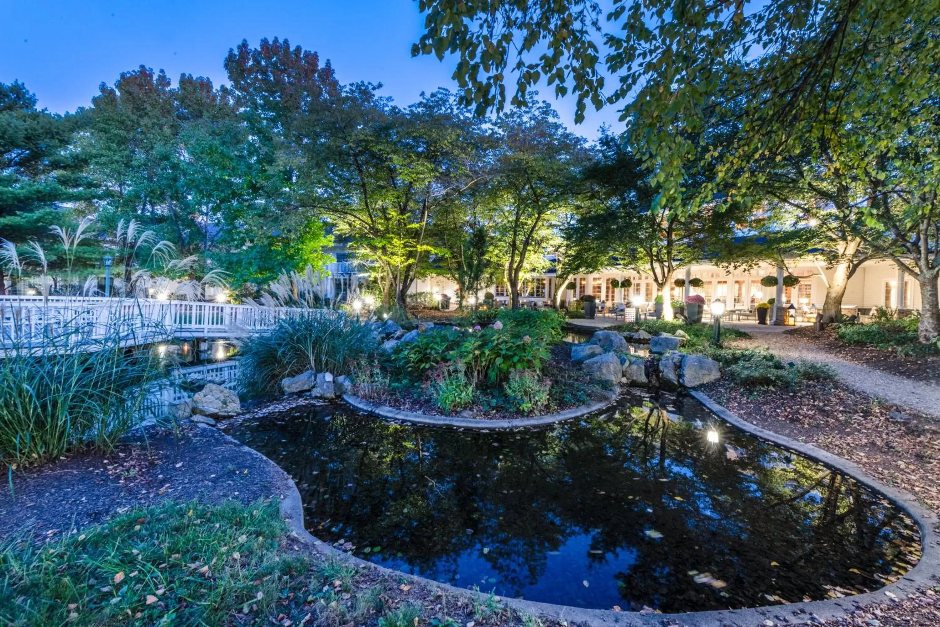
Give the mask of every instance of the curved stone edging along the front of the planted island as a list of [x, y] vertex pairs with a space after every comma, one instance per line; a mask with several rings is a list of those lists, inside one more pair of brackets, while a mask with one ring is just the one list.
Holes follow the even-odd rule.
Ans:
[[619, 396], [619, 388], [615, 387], [613, 390], [607, 390], [604, 392], [604, 395], [606, 396], [604, 400], [598, 400], [596, 402], [588, 403], [587, 405], [581, 405], [579, 407], [572, 407], [572, 409], [566, 409], [565, 411], [558, 412], [557, 414], [537, 415], [531, 418], [506, 418], [499, 420], [489, 420], [486, 418], [462, 418], [454, 415], [418, 414], [417, 412], [409, 412], [403, 409], [388, 407], [386, 405], [379, 405], [360, 397], [353, 396], [352, 394], [344, 394], [342, 398], [354, 409], [357, 409], [360, 412], [378, 415], [387, 420], [401, 420], [413, 424], [429, 425], [434, 427], [489, 430], [541, 427], [544, 425], [551, 425], [556, 422], [561, 422], [562, 420], [571, 420], [572, 418], [579, 418], [582, 415], [593, 414], [594, 412], [606, 409], [615, 400], [617, 400]]

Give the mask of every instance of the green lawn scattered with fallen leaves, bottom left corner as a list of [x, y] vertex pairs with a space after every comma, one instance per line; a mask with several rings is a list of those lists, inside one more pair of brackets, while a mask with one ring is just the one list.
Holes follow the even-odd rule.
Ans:
[[8, 541], [0, 616], [24, 627], [224, 625], [248, 608], [260, 622], [307, 567], [278, 555], [286, 533], [276, 502], [227, 501], [132, 509], [51, 544]]

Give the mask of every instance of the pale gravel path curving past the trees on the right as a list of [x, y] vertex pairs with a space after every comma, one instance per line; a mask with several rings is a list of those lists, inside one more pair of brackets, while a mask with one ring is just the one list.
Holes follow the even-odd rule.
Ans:
[[783, 361], [805, 359], [836, 369], [838, 380], [856, 390], [902, 407], [940, 418], [940, 385], [928, 384], [846, 361], [818, 346], [787, 334], [748, 329], [750, 339], [735, 340], [740, 348], [766, 348]]

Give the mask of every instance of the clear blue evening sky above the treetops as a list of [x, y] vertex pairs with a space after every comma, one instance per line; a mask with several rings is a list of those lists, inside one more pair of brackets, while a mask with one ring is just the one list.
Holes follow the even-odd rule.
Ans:
[[[39, 105], [63, 113], [86, 106], [104, 81], [144, 64], [174, 84], [181, 72], [226, 81], [222, 61], [242, 39], [290, 39], [330, 59], [339, 80], [381, 82], [399, 104], [421, 91], [453, 87], [453, 59], [413, 58], [421, 33], [414, 0], [0, 0], [0, 82], [20, 80]], [[577, 133], [622, 127], [610, 108], [576, 126], [574, 101], [540, 92]]]

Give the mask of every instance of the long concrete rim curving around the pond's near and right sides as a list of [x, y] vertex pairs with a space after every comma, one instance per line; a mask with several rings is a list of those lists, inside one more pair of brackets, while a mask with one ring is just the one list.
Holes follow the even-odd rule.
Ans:
[[[897, 582], [864, 594], [843, 597], [841, 599], [764, 605], [736, 610], [712, 610], [682, 614], [652, 614], [585, 609], [568, 605], [525, 601], [523, 599], [513, 599], [510, 597], [499, 597], [500, 603], [524, 615], [557, 619], [569, 624], [581, 623], [594, 627], [607, 627], [611, 625], [617, 625], [618, 627], [652, 627], [654, 625], [659, 627], [662, 625], [682, 625], [683, 627], [763, 627], [819, 622], [821, 619], [839, 619], [866, 606], [898, 603], [905, 599], [911, 591], [917, 592], [924, 588], [932, 588], [940, 583], [940, 535], [937, 533], [937, 526], [940, 522], [938, 522], [936, 515], [920, 506], [915, 498], [895, 488], [886, 486], [876, 478], [870, 477], [868, 473], [853, 462], [843, 460], [821, 448], [793, 440], [783, 435], [778, 435], [773, 431], [767, 431], [757, 425], [746, 422], [701, 392], [692, 390], [689, 394], [705, 405], [714, 415], [727, 421], [733, 427], [754, 435], [761, 440], [766, 440], [776, 446], [789, 448], [817, 462], [823, 462], [839, 472], [851, 476], [870, 490], [878, 494], [883, 494], [898, 505], [917, 523], [920, 531], [922, 556], [920, 561], [917, 562], [917, 566], [906, 572]], [[427, 416], [422, 417], [427, 418]], [[396, 419], [403, 418], [397, 417]], [[438, 423], [427, 422], [426, 420], [421, 424]], [[204, 428], [210, 429], [209, 427]], [[230, 437], [228, 435], [226, 436]], [[275, 466], [277, 465], [253, 448], [245, 445], [242, 446], [252, 450], [261, 459]], [[281, 489], [281, 517], [284, 519], [285, 523], [289, 525], [290, 536], [296, 541], [305, 544], [322, 556], [338, 558], [359, 568], [377, 569], [378, 572], [383, 572], [399, 580], [414, 581], [428, 586], [429, 588], [446, 592], [446, 594], [462, 595], [467, 598], [473, 598], [478, 594], [487, 594], [485, 590], [475, 591], [469, 588], [456, 588], [414, 574], [388, 569], [384, 566], [373, 564], [359, 557], [339, 551], [327, 542], [318, 540], [305, 529], [304, 504], [301, 499], [300, 491], [297, 489], [293, 479], [290, 478], [290, 475], [280, 468], [280, 466], [278, 466], [278, 468], [283, 474], [283, 484], [279, 486]]]

